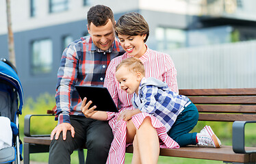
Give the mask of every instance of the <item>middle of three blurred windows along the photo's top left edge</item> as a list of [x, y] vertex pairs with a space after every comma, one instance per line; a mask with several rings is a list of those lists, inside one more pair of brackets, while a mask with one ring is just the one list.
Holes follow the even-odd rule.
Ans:
[[68, 10], [68, 0], [50, 0], [50, 12], [63, 12]]

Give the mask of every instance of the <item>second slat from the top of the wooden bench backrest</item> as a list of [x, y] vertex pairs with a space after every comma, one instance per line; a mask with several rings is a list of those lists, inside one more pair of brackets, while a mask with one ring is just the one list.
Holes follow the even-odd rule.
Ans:
[[189, 97], [194, 104], [256, 105], [256, 96]]

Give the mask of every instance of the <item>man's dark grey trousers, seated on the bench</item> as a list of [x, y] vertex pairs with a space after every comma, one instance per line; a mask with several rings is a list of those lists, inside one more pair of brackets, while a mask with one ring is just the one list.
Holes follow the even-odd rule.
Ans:
[[71, 131], [67, 132], [65, 141], [62, 139], [62, 133], [57, 140], [53, 137], [49, 150], [49, 163], [71, 163], [71, 154], [77, 148], [84, 146], [84, 143], [88, 148], [86, 164], [106, 163], [113, 140], [112, 129], [108, 122], [71, 115], [71, 125], [75, 128], [74, 138], [71, 137]]

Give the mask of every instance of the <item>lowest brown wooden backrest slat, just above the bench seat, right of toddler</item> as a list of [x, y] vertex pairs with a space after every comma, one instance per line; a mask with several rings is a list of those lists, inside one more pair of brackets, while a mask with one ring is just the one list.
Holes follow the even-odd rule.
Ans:
[[199, 113], [199, 120], [201, 121], [255, 121], [255, 114], [218, 114], [218, 113]]

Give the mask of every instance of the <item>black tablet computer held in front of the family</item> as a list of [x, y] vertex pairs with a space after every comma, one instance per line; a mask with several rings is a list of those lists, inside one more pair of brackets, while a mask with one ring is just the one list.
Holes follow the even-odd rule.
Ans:
[[[118, 108], [108, 92], [106, 87], [99, 87], [99, 86], [88, 86], [88, 85], [75, 85], [77, 92], [81, 98], [87, 98], [87, 102], [89, 100], [92, 101], [92, 105], [96, 105], [95, 111], [113, 111], [118, 112]], [[90, 105], [90, 107], [92, 107]]]

